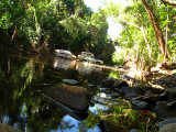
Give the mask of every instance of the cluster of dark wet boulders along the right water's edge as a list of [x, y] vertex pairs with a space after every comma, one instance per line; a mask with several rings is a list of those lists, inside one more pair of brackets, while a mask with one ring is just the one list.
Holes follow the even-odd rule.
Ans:
[[125, 80], [112, 77], [102, 80], [101, 84], [129, 100], [132, 109], [150, 110], [163, 118], [176, 117], [176, 87], [169, 89], [150, 86], [130, 87]]

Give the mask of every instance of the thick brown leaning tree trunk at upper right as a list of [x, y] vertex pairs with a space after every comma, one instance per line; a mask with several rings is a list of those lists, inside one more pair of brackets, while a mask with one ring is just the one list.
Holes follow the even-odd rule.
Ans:
[[145, 10], [151, 19], [153, 29], [155, 31], [155, 35], [158, 42], [158, 46], [160, 46], [160, 51], [161, 53], [166, 57], [166, 58], [170, 58], [170, 54], [168, 52], [167, 45], [165, 44], [165, 40], [163, 36], [163, 32], [160, 29], [160, 26], [157, 25], [157, 20], [155, 14], [153, 13], [152, 7], [150, 6], [148, 0], [142, 0], [142, 2], [144, 3]]

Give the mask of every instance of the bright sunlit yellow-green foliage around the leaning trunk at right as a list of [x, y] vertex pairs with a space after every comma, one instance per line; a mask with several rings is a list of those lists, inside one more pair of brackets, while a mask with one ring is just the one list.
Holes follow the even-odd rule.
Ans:
[[[164, 4], [158, 0], [150, 0], [153, 12], [156, 14], [158, 26], [162, 29], [166, 38], [168, 50], [174, 58], [175, 56], [175, 8]], [[113, 11], [113, 9], [118, 9]], [[142, 1], [131, 0], [131, 4], [122, 8], [118, 4], [110, 3], [105, 9], [108, 15], [116, 18], [121, 23], [123, 30], [117, 38], [121, 47], [125, 48], [127, 59], [138, 59], [145, 65], [153, 65], [164, 59], [160, 54], [158, 42], [156, 35]], [[167, 29], [167, 31], [166, 31]], [[113, 62], [122, 64], [124, 59], [123, 53], [113, 53]], [[160, 62], [158, 62], [160, 61]], [[140, 63], [139, 63], [140, 64]], [[143, 65], [145, 67], [145, 65]]]

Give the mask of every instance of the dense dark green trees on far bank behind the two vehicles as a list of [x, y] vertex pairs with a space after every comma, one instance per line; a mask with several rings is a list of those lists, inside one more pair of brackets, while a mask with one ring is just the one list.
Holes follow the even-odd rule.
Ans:
[[[82, 0], [2, 0], [0, 29], [19, 50], [46, 54], [65, 48], [76, 55], [89, 51], [111, 63], [107, 14], [102, 10], [94, 13]], [[111, 51], [106, 52], [107, 47]]]

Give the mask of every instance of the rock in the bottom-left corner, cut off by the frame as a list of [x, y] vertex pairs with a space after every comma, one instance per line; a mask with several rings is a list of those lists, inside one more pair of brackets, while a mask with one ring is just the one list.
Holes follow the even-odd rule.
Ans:
[[21, 132], [21, 131], [11, 125], [0, 123], [0, 132]]

